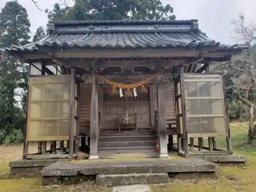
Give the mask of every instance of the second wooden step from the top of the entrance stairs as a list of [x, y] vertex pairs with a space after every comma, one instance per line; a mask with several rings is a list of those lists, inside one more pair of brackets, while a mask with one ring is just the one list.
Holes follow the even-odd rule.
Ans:
[[99, 142], [114, 142], [114, 141], [156, 141], [157, 136], [152, 135], [118, 135], [118, 136], [100, 136]]

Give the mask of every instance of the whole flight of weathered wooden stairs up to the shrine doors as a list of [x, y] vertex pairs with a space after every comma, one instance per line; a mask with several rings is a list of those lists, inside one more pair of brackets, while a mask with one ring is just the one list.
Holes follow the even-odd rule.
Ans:
[[99, 136], [99, 154], [156, 153], [157, 134], [152, 130], [102, 131]]

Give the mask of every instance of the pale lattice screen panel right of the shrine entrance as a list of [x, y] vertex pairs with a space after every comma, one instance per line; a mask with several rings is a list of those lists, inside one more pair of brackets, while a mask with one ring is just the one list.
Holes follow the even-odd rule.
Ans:
[[188, 134], [225, 135], [225, 102], [221, 75], [184, 74]]

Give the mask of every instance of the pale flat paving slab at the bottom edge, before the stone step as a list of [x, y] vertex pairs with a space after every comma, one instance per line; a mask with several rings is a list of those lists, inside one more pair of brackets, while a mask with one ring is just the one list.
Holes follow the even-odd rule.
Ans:
[[123, 185], [113, 187], [113, 192], [150, 192], [149, 185]]

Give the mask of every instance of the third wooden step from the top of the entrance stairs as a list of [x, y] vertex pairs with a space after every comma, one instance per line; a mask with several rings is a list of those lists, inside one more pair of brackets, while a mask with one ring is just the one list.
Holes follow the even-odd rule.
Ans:
[[99, 148], [104, 147], [141, 147], [145, 146], [156, 147], [156, 140], [151, 141], [114, 141], [114, 142], [99, 142]]

